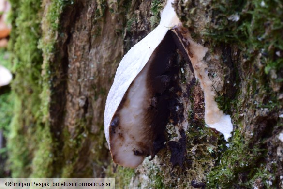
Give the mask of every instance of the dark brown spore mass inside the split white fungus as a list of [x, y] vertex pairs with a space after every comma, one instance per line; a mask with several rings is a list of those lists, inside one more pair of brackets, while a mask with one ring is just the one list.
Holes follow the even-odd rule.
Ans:
[[[187, 45], [189, 47], [189, 44]], [[178, 84], [180, 83], [180, 63], [178, 61], [180, 56], [185, 63], [189, 64], [189, 68], [192, 74], [194, 74], [186, 49], [184, 49], [176, 33], [169, 30], [152, 53], [146, 65], [149, 66], [146, 87], [150, 94], [149, 100], [151, 100], [151, 103], [144, 113], [145, 139], [142, 142], [138, 142], [139, 149], [133, 149], [133, 154], [136, 156], [148, 157], [150, 155], [151, 158], [149, 160], [152, 160], [161, 149], [165, 148], [165, 126], [169, 119], [173, 120], [173, 125], [184, 119], [184, 107], [182, 102], [178, 100], [181, 97], [180, 95], [183, 94]], [[129, 89], [133, 83], [134, 81]], [[125, 93], [111, 121], [110, 141], [116, 134], [119, 134], [119, 137], [123, 137], [120, 134], [122, 131], [119, 127], [119, 110], [128, 104], [128, 91]], [[172, 152], [170, 162], [172, 162], [173, 166], [179, 165], [182, 167], [186, 136], [184, 130], [179, 132], [182, 137], [179, 139], [179, 142], [170, 141], [168, 145]], [[114, 142], [111, 141], [110, 146], [113, 144]]]

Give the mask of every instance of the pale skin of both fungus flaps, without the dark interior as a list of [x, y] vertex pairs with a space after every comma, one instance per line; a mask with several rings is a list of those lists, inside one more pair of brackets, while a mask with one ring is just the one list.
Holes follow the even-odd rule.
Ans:
[[[145, 123], [145, 116], [147, 116], [145, 111], [150, 105], [152, 96], [146, 88], [146, 78], [150, 67], [147, 63], [167, 31], [178, 24], [180, 25], [171, 5], [173, 2], [174, 0], [167, 1], [161, 14], [160, 25], [132, 47], [123, 57], [106, 100], [104, 112], [105, 137], [113, 161], [124, 167], [135, 168], [145, 158], [145, 156], [134, 155], [134, 150], [142, 152], [142, 146], [139, 143], [149, 140], [147, 133], [149, 126]], [[189, 58], [193, 64], [195, 76], [199, 79], [204, 91], [205, 122], [210, 127], [222, 132], [227, 140], [231, 136], [233, 126], [230, 116], [219, 110], [214, 100], [215, 92], [205, 71], [207, 65], [203, 62], [207, 48], [195, 43], [189, 34], [186, 37], [190, 42], [190, 51], [193, 54], [193, 57], [189, 56]], [[127, 91], [127, 99], [122, 103], [123, 107], [119, 107]], [[119, 112], [117, 112], [118, 108]], [[119, 133], [110, 138], [110, 124], [114, 119], [113, 116], [117, 113], [119, 114]]]

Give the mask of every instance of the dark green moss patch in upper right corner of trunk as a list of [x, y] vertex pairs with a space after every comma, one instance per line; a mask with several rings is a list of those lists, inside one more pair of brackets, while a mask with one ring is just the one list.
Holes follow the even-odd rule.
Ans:
[[[228, 4], [224, 0], [213, 1], [211, 9], [215, 22], [207, 27], [204, 37], [214, 43], [241, 45], [248, 60], [261, 53], [265, 73], [277, 72], [283, 67], [283, 58], [276, 55], [283, 51], [282, 6], [277, 0], [231, 0]], [[237, 15], [239, 20], [231, 20], [231, 15]], [[280, 79], [275, 80], [280, 82]]]

